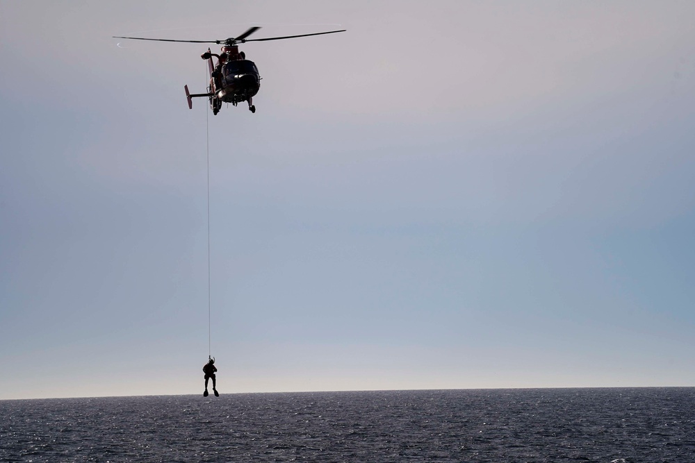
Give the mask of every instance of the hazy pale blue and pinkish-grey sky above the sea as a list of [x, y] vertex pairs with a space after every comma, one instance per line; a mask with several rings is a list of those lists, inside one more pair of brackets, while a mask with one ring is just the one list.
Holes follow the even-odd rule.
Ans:
[[0, 0], [0, 399], [695, 386], [694, 19]]

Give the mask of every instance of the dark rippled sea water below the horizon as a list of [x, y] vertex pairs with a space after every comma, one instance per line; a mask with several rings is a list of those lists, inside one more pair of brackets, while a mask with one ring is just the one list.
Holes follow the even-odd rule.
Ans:
[[695, 388], [0, 401], [2, 462], [695, 462]]

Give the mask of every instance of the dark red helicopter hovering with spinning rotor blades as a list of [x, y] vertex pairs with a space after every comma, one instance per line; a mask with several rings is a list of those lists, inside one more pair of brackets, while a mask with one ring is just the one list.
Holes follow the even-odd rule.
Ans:
[[[207, 60], [208, 71], [210, 73], [210, 85], [206, 93], [191, 94], [188, 92], [188, 85], [184, 85], [186, 90], [186, 99], [188, 100], [188, 109], [193, 109], [193, 98], [208, 98], [210, 107], [213, 110], [213, 115], [217, 115], [222, 108], [222, 103], [231, 103], [236, 106], [242, 101], [249, 103], [249, 110], [252, 113], [256, 112], [256, 106], [253, 104], [253, 97], [261, 88], [261, 76], [256, 64], [246, 59], [246, 53], [239, 51], [238, 44], [245, 42], [265, 42], [266, 40], [284, 40], [293, 39], [295, 37], [309, 37], [310, 35], [325, 35], [334, 34], [341, 31], [317, 32], [312, 34], [286, 35], [284, 37], [267, 37], [263, 39], [247, 39], [249, 35], [260, 29], [259, 26], [254, 26], [248, 29], [245, 33], [238, 37], [229, 37], [224, 40], [173, 40], [173, 39], [151, 39], [145, 37], [116, 37], [116, 39], [129, 40], [156, 40], [158, 42], [189, 42], [189, 43], [214, 43], [221, 44], [222, 51], [212, 53], [208, 47], [208, 51], [203, 53], [200, 58]], [[217, 62], [213, 62], [213, 57], [217, 58]]]

